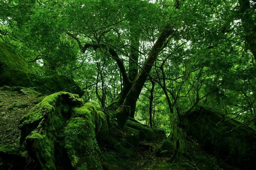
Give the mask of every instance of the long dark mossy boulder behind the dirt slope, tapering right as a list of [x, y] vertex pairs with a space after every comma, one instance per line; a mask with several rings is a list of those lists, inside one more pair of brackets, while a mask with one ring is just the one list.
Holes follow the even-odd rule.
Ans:
[[35, 88], [42, 94], [67, 91], [82, 96], [84, 91], [67, 76], [42, 76], [32, 72], [26, 60], [12, 47], [0, 42], [0, 86]]

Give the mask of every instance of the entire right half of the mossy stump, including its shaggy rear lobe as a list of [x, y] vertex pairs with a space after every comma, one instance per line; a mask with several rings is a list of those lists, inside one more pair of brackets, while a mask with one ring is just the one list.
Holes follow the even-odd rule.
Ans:
[[97, 111], [91, 103], [73, 108], [71, 119], [65, 127], [65, 148], [73, 167], [76, 169], [84, 167], [102, 169], [99, 164], [99, 146], [96, 134], [106, 132], [107, 129], [105, 114]]

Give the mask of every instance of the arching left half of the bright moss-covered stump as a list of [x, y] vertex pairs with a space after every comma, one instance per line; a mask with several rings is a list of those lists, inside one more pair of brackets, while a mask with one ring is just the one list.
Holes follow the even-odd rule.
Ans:
[[55, 169], [55, 144], [63, 136], [61, 129], [73, 105], [82, 105], [78, 95], [58, 92], [45, 97], [21, 120], [20, 142], [26, 139], [26, 149], [43, 170]]

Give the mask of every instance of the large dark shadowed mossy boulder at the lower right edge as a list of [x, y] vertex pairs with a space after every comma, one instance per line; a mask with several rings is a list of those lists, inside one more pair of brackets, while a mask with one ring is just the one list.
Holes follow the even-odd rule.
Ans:
[[256, 132], [250, 127], [205, 108], [187, 114], [182, 124], [208, 153], [244, 169], [256, 166]]

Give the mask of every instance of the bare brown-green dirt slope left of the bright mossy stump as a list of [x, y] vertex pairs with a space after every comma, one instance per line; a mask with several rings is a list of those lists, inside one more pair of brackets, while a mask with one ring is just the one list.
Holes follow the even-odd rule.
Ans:
[[0, 145], [19, 143], [18, 126], [23, 115], [37, 102], [37, 95], [22, 91], [5, 91], [0, 88]]

